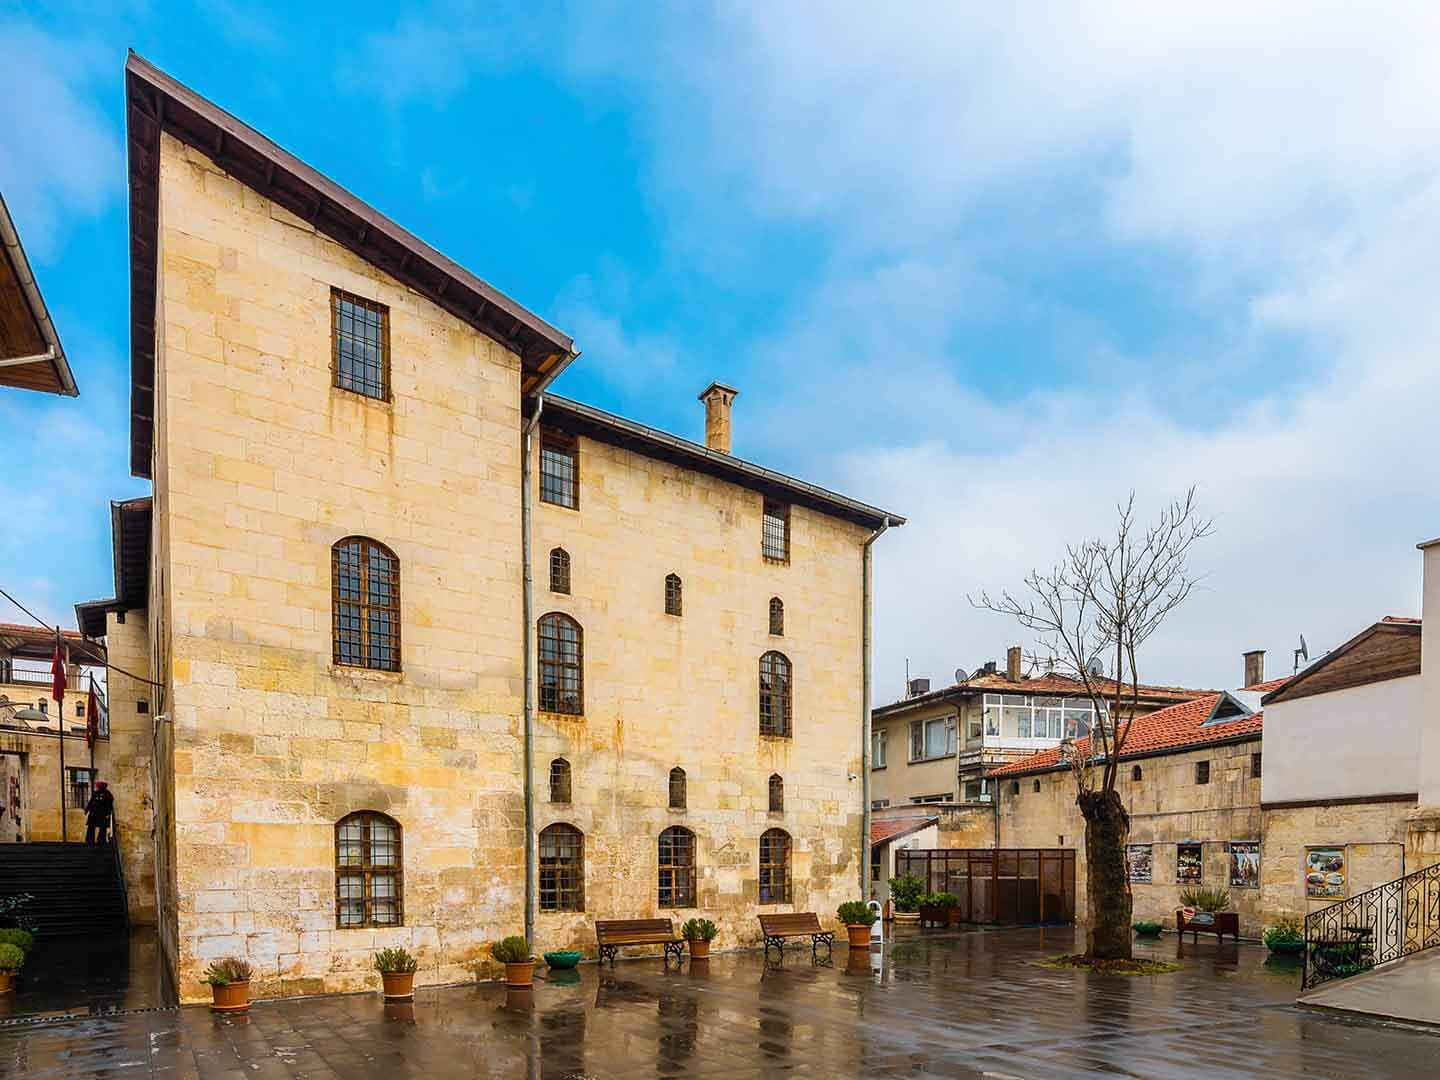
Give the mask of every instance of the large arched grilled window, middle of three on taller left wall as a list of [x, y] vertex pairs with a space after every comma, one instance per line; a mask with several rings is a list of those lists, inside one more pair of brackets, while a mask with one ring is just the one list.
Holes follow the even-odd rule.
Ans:
[[336, 664], [400, 670], [400, 560], [384, 544], [347, 536], [330, 549]]

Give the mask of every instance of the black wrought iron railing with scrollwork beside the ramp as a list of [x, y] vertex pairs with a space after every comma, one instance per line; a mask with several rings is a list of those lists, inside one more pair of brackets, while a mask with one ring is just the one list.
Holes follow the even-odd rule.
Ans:
[[1302, 989], [1440, 945], [1440, 864], [1305, 916]]

